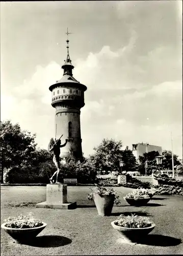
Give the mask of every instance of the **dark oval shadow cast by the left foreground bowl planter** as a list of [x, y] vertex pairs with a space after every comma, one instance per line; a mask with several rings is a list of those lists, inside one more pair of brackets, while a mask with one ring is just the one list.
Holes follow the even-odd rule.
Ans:
[[35, 247], [59, 247], [70, 244], [71, 242], [71, 239], [61, 236], [40, 236], [24, 244]]

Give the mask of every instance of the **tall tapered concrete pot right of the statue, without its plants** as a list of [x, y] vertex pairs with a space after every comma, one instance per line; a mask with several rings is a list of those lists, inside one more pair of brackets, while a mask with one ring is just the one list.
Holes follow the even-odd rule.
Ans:
[[93, 194], [93, 200], [95, 202], [98, 215], [100, 216], [110, 216], [113, 205], [114, 205], [114, 200], [115, 196], [110, 195], [110, 196], [100, 196], [98, 194]]

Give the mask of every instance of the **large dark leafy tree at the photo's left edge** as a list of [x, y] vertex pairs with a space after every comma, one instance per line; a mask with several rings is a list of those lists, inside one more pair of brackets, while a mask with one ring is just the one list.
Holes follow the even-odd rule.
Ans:
[[35, 137], [35, 134], [21, 131], [18, 123], [1, 121], [1, 183], [4, 183], [4, 170], [14, 166], [23, 167], [29, 163], [37, 145]]

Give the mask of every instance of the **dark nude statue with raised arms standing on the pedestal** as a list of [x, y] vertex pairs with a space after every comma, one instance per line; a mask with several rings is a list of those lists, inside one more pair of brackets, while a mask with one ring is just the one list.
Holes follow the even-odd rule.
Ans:
[[[62, 136], [61, 136], [62, 137]], [[58, 139], [58, 140], [55, 140], [55, 144], [49, 148], [49, 152], [53, 151], [54, 152], [54, 158], [53, 158], [53, 161], [57, 167], [57, 170], [56, 172], [53, 174], [53, 176], [51, 176], [51, 178], [49, 179], [50, 180], [50, 183], [59, 183], [58, 182], [58, 176], [59, 176], [59, 173], [60, 173], [60, 161], [59, 161], [59, 156], [60, 156], [60, 147], [64, 147], [66, 144], [67, 144], [67, 139], [65, 140], [65, 143], [63, 145], [61, 145], [61, 140]], [[55, 178], [54, 176], [56, 176], [56, 181], [55, 181]], [[54, 182], [55, 181], [55, 182]]]

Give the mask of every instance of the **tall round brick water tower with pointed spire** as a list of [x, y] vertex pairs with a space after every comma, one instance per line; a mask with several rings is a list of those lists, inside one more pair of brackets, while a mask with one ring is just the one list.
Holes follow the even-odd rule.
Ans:
[[52, 84], [49, 90], [52, 93], [51, 105], [56, 109], [56, 139], [61, 143], [68, 139], [66, 146], [61, 149], [60, 157], [64, 162], [71, 159], [83, 161], [82, 138], [80, 126], [81, 108], [85, 105], [84, 92], [87, 87], [72, 76], [71, 59], [69, 56], [69, 40], [67, 42], [67, 58], [62, 66], [63, 77]]

